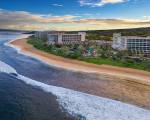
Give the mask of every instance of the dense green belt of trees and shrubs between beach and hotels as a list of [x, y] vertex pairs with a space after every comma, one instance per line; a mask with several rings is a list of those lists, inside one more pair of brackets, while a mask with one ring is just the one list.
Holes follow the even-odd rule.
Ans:
[[[78, 59], [94, 64], [108, 64], [113, 66], [129, 67], [150, 71], [150, 60], [131, 59], [127, 51], [118, 52], [110, 46], [89, 46], [89, 45], [46, 45], [42, 40], [29, 38], [29, 44], [35, 48], [47, 53], [63, 56], [70, 59]], [[93, 48], [97, 51], [97, 55], [84, 56], [83, 51], [88, 48]]]

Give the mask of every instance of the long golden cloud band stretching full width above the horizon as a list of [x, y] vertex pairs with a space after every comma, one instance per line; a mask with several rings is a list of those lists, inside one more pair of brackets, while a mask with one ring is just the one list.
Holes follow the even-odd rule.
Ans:
[[26, 11], [0, 10], [0, 28], [23, 30], [101, 30], [149, 27], [149, 17], [141, 19], [86, 18], [77, 15], [56, 16], [34, 14]]

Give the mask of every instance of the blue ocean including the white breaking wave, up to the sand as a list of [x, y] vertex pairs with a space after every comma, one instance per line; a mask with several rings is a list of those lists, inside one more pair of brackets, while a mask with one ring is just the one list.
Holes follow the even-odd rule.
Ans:
[[149, 110], [71, 89], [93, 74], [48, 66], [6, 44], [25, 36], [0, 33], [0, 120], [150, 120]]

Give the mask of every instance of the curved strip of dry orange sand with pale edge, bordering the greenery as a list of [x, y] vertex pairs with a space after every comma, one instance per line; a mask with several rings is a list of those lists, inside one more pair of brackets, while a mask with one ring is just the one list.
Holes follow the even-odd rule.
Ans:
[[121, 68], [111, 65], [96, 65], [83, 61], [63, 58], [53, 54], [45, 53], [27, 43], [27, 38], [11, 40], [10, 47], [15, 48], [19, 53], [34, 57], [50, 66], [71, 70], [75, 72], [95, 73], [119, 77], [133, 82], [150, 85], [150, 72], [132, 68]]

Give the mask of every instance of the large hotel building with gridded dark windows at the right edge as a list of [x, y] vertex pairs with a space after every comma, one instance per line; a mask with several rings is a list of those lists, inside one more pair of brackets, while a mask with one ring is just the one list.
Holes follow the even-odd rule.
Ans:
[[121, 36], [113, 34], [112, 47], [117, 50], [128, 50], [137, 54], [150, 54], [150, 37]]

